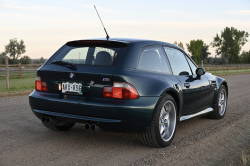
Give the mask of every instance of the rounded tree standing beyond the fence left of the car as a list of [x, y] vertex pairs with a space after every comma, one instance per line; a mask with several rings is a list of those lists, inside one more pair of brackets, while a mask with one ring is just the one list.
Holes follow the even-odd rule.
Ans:
[[13, 58], [13, 61], [17, 63], [17, 59], [26, 52], [26, 46], [24, 41], [21, 39], [20, 42], [16, 38], [10, 39], [10, 43], [5, 46], [5, 53], [9, 54]]

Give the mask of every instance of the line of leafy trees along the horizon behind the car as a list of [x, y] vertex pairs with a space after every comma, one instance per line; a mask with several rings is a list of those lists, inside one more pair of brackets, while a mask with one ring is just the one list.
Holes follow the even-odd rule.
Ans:
[[[216, 34], [210, 44], [206, 44], [202, 39], [191, 40], [186, 43], [187, 50], [191, 54], [192, 59], [200, 64], [201, 60], [207, 64], [238, 64], [250, 63], [250, 50], [243, 51], [242, 47], [248, 42], [248, 32], [237, 30], [234, 27], [226, 27], [221, 31], [221, 34]], [[181, 47], [184, 50], [182, 42], [174, 42], [173, 44]], [[215, 48], [215, 57], [208, 52], [209, 47]], [[19, 42], [16, 38], [10, 39], [8, 45], [5, 46], [5, 51], [0, 53], [0, 63], [5, 63], [5, 56], [9, 55], [10, 64], [30, 64], [30, 63], [44, 63], [46, 60], [41, 57], [38, 60], [31, 60], [27, 55], [21, 57], [26, 52], [26, 46], [21, 39]]]

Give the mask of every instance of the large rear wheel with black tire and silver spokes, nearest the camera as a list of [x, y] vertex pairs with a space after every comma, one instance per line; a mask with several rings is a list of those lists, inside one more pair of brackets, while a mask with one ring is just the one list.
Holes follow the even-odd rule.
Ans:
[[[167, 104], [169, 104], [170, 106], [167, 107]], [[168, 114], [168, 117], [169, 117], [167, 120], [167, 123], [165, 123], [166, 122], [165, 118], [167, 115], [161, 116], [163, 106], [164, 106], [165, 113]], [[165, 106], [168, 108], [168, 110], [165, 109]], [[171, 108], [173, 107], [173, 109], [171, 110], [170, 107]], [[177, 109], [176, 108], [177, 107], [176, 107], [175, 100], [173, 99], [171, 95], [167, 94], [161, 99], [160, 103], [158, 104], [156, 108], [150, 127], [146, 131], [140, 134], [140, 140], [144, 145], [158, 147], [158, 148], [166, 147], [170, 145], [170, 143], [172, 142], [174, 138], [175, 131], [176, 131], [176, 122], [177, 122], [177, 119], [176, 119]], [[162, 118], [163, 116], [164, 116], [164, 119]], [[164, 125], [164, 127], [161, 126], [162, 124]], [[165, 130], [163, 130], [163, 132], [161, 132], [160, 129], [162, 128], [165, 129], [166, 124], [167, 124], [167, 128], [169, 128], [168, 131], [166, 132]], [[170, 131], [170, 128], [172, 128], [171, 131]], [[167, 138], [166, 140], [164, 140], [163, 138], [164, 133], [165, 135], [169, 135], [169, 138]], [[170, 133], [170, 134], [166, 134], [166, 133]]]

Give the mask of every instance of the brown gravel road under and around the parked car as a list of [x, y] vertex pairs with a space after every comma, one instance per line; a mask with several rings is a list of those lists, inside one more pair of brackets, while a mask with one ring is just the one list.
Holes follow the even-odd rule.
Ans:
[[182, 122], [166, 148], [140, 143], [135, 133], [67, 132], [45, 128], [28, 96], [0, 98], [0, 165], [238, 165], [250, 149], [250, 75], [224, 76], [229, 84], [226, 116]]

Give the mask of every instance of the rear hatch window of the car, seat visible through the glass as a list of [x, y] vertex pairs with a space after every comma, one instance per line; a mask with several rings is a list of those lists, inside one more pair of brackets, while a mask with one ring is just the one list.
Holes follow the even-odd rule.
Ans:
[[64, 61], [76, 65], [115, 67], [127, 45], [118, 42], [102, 42], [69, 42], [48, 63]]

